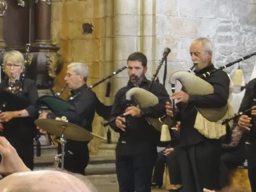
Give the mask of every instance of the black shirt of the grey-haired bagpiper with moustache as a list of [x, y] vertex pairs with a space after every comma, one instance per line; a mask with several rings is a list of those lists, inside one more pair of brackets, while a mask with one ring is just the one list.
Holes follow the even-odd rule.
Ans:
[[[199, 72], [197, 76], [205, 72], [214, 70], [214, 65], [210, 65]], [[220, 108], [227, 103], [229, 95], [229, 78], [224, 71], [217, 71], [211, 74], [206, 81], [214, 87], [214, 93], [208, 95], [189, 95], [187, 103], [178, 103], [179, 113], [177, 118], [181, 121], [180, 145], [186, 146], [207, 140], [194, 127], [198, 108]], [[200, 89], [199, 84], [195, 84], [193, 89]]]

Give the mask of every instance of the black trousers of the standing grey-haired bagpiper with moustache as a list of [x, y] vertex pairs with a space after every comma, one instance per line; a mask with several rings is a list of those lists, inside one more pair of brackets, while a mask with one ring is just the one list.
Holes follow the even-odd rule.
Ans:
[[220, 189], [220, 140], [208, 139], [177, 150], [184, 192]]

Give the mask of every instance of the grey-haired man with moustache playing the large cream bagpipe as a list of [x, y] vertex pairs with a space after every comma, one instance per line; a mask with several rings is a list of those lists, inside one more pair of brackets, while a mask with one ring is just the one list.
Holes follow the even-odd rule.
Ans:
[[[190, 56], [195, 67], [195, 74], [201, 76], [215, 70], [211, 63], [212, 45], [208, 38], [202, 37], [192, 42]], [[176, 120], [180, 125], [180, 147], [178, 161], [180, 164], [183, 191], [202, 191], [203, 188], [220, 188], [221, 141], [209, 137], [196, 128], [197, 108], [221, 108], [227, 104], [229, 95], [228, 75], [220, 70], [205, 79], [214, 88], [214, 93], [206, 95], [188, 95], [178, 91], [170, 99], [175, 99], [178, 113]], [[197, 87], [196, 87], [197, 86]], [[195, 84], [194, 89], [200, 89]], [[172, 106], [166, 103], [166, 113], [173, 116]], [[203, 125], [202, 125], [203, 124]], [[204, 123], [202, 130], [207, 129]], [[216, 129], [217, 130], [217, 129]], [[216, 131], [213, 127], [210, 132]]]

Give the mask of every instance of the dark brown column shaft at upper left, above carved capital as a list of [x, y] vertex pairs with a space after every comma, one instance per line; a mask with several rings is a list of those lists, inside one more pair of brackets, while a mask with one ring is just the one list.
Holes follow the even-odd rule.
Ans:
[[36, 44], [50, 44], [51, 0], [36, 0]]

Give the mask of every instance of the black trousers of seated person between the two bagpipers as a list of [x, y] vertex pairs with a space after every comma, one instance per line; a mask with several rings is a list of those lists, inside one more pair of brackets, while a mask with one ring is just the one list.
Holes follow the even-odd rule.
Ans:
[[178, 162], [178, 151], [175, 150], [167, 156], [163, 154], [163, 151], [160, 151], [157, 155], [152, 182], [159, 185], [163, 184], [163, 173], [166, 163], [169, 170], [170, 183], [174, 185], [182, 184]]

